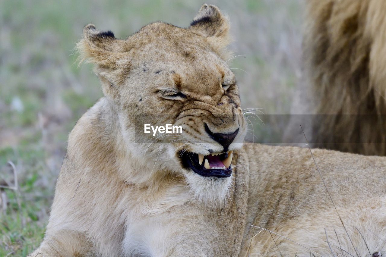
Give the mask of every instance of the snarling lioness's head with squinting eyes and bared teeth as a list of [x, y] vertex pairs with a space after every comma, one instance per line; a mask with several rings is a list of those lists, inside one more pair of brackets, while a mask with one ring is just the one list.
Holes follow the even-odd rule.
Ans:
[[[227, 65], [228, 31], [228, 19], [206, 4], [188, 28], [155, 22], [125, 40], [85, 27], [78, 49], [96, 64], [122, 139], [136, 157], [127, 166], [138, 167], [137, 182], [170, 173], [203, 200], [226, 196], [233, 152], [245, 135], [239, 90]], [[144, 133], [146, 123], [180, 125], [183, 132], [153, 136]]]

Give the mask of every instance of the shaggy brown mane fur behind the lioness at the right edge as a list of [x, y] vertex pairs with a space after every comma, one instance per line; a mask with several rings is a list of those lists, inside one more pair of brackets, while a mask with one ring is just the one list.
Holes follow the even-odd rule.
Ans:
[[308, 0], [306, 5], [303, 47], [306, 86], [316, 103], [312, 113], [333, 114], [317, 117], [312, 141], [386, 155], [386, 2]]

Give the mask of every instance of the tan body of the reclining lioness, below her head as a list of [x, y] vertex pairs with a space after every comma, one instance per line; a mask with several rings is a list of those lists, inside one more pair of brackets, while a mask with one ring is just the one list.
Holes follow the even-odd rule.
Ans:
[[[111, 150], [114, 139], [106, 140], [111, 135], [103, 122], [113, 115], [101, 118], [105, 104], [100, 100], [71, 132], [45, 240], [34, 254], [280, 256], [279, 249], [290, 256], [308, 256], [310, 250], [331, 256], [325, 228], [331, 244], [355, 254], [309, 149], [246, 145], [235, 158], [230, 198], [219, 207], [203, 205], [189, 196], [185, 179], [158, 176], [149, 188], [120, 178], [112, 162], [118, 154]], [[105, 140], [98, 139], [101, 134]], [[371, 252], [385, 252], [384, 157], [317, 149], [313, 154], [359, 256], [368, 250], [356, 228]], [[274, 234], [273, 241], [251, 225], [307, 249]], [[252, 234], [257, 236], [251, 241]], [[134, 249], [123, 247], [125, 239]]]

